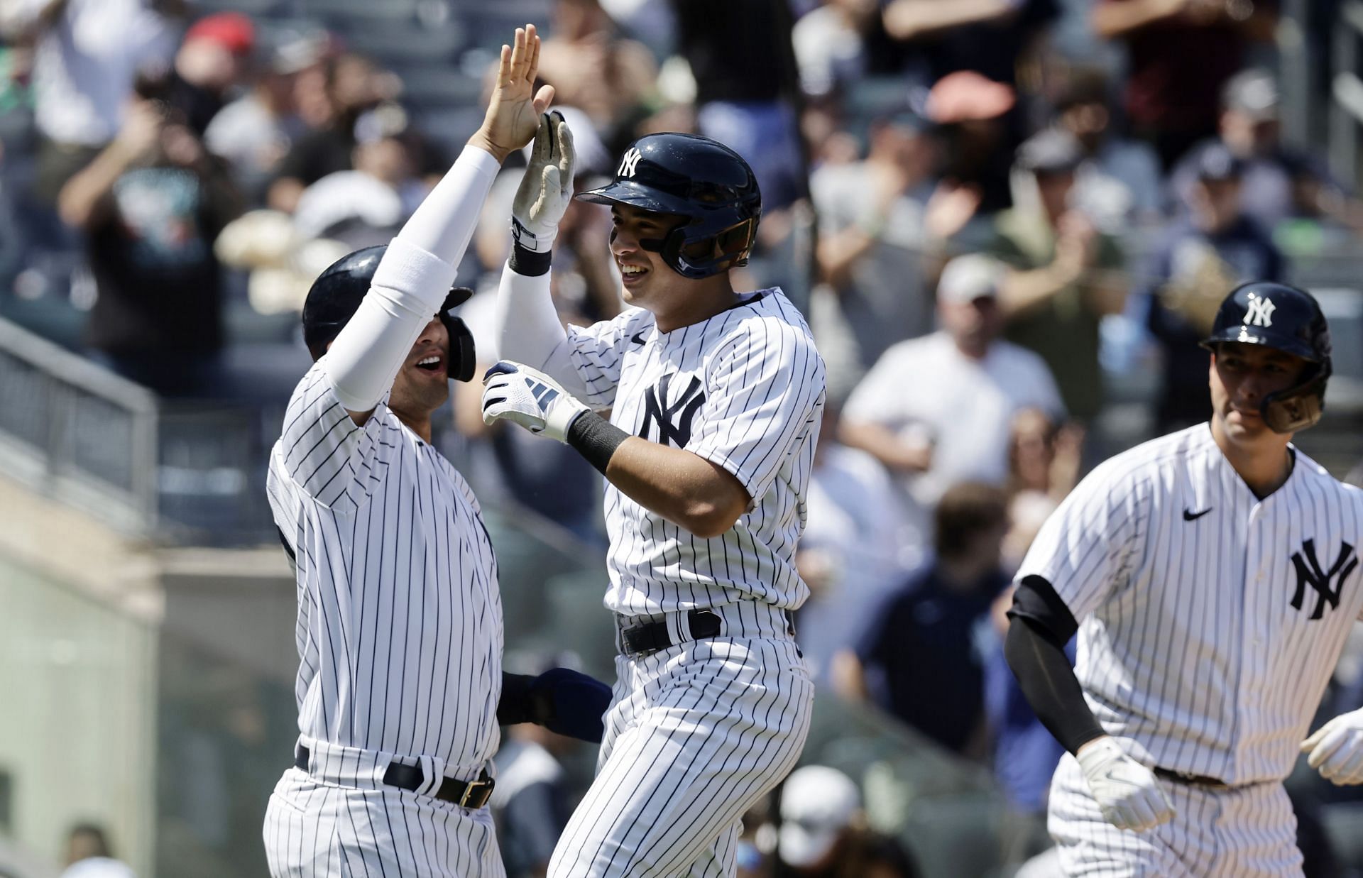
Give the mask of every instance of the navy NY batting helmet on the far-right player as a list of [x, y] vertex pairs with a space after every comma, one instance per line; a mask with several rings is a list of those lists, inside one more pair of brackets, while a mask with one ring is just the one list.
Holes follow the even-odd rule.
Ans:
[[1227, 341], [1264, 345], [1310, 363], [1296, 386], [1264, 397], [1259, 413], [1269, 429], [1291, 434], [1321, 420], [1330, 378], [1330, 327], [1311, 293], [1266, 281], [1231, 290], [1202, 346], [1214, 352]]

